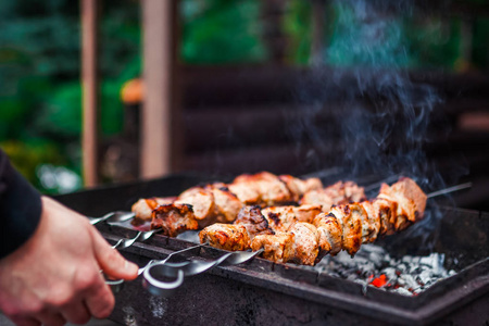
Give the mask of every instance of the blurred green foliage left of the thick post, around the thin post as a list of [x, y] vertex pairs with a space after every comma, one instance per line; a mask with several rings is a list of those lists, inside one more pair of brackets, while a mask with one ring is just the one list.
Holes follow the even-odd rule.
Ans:
[[[140, 75], [140, 17], [138, 1], [100, 3], [101, 131], [109, 136], [122, 129], [122, 85]], [[79, 3], [0, 1], [0, 147], [46, 191], [40, 164], [80, 173]]]

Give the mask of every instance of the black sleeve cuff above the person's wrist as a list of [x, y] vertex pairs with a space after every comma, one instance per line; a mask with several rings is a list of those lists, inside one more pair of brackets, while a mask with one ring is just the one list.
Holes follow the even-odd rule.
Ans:
[[12, 167], [0, 149], [0, 259], [34, 234], [41, 208], [40, 193]]

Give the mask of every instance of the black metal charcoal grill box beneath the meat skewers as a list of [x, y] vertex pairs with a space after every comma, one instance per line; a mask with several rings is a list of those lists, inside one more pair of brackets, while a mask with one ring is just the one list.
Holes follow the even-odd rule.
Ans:
[[[57, 199], [84, 214], [98, 216], [114, 210], [129, 210], [141, 197], [173, 196], [215, 179], [179, 174]], [[151, 296], [139, 278], [126, 283], [116, 293], [116, 306], [110, 318], [125, 325], [487, 325], [489, 213], [434, 205], [429, 210], [440, 216], [434, 218], [438, 221], [436, 227], [426, 228], [417, 236], [405, 233], [377, 243], [394, 258], [427, 255], [431, 251], [444, 255], [444, 267], [456, 273], [417, 296], [365, 287], [317, 268], [254, 259], [188, 277], [170, 298]], [[121, 226], [98, 227], [110, 242], [136, 234]], [[151, 259], [163, 259], [192, 244], [155, 235], [146, 242], [136, 242], [123, 254], [143, 265]], [[215, 259], [223, 252], [205, 247], [190, 254]]]

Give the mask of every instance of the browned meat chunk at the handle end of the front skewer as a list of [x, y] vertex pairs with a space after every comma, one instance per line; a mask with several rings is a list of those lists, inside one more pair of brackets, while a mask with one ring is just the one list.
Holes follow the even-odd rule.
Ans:
[[251, 241], [242, 225], [215, 223], [199, 233], [201, 243], [209, 241], [215, 248], [238, 251], [248, 250]]

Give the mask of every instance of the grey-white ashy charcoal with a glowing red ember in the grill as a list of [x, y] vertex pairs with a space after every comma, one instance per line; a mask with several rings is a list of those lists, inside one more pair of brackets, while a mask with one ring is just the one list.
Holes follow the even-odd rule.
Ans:
[[455, 274], [455, 271], [447, 271], [443, 262], [442, 253], [394, 259], [379, 246], [364, 244], [354, 258], [346, 252], [336, 256], [326, 255], [314, 268], [359, 283], [364, 286], [363, 292], [366, 292], [367, 286], [373, 286], [399, 294], [415, 296]]

